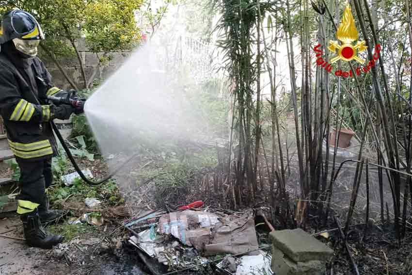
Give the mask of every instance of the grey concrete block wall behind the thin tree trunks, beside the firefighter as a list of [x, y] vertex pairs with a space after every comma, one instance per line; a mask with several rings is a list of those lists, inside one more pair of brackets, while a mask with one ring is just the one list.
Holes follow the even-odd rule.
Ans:
[[[77, 48], [79, 50], [88, 79], [105, 79], [109, 77], [120, 65], [123, 64], [131, 53], [130, 51], [106, 53], [106, 55], [111, 55], [112, 59], [102, 65], [99, 64], [98, 56], [103, 56], [104, 53], [97, 53], [96, 55], [96, 53], [89, 51], [85, 45], [84, 39], [77, 42]], [[63, 73], [59, 70], [57, 65], [47, 57], [43, 57], [42, 60], [53, 77], [54, 85], [62, 89], [71, 89], [70, 84], [64, 78]], [[77, 56], [59, 60], [59, 63], [62, 65], [67, 75], [75, 81], [79, 89], [84, 87]]]

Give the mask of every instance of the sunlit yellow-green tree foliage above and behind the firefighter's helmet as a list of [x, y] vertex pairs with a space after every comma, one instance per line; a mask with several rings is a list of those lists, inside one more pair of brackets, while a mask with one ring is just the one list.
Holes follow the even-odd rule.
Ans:
[[141, 0], [17, 0], [0, 1], [0, 11], [32, 13], [46, 35], [41, 56], [59, 60], [75, 57], [81, 37], [95, 53], [133, 48], [141, 38], [134, 16], [141, 5]]

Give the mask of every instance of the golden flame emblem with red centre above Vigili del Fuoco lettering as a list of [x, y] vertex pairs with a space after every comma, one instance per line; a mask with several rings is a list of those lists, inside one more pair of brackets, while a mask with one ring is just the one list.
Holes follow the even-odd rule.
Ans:
[[[355, 20], [352, 16], [352, 11], [349, 3], [346, 5], [346, 9], [343, 13], [342, 21], [339, 25], [339, 29], [336, 32], [336, 37], [342, 42], [341, 45], [337, 41], [330, 40], [328, 49], [337, 56], [331, 59], [331, 64], [338, 60], [351, 61], [356, 60], [360, 64], [364, 64], [364, 59], [358, 56], [358, 53], [367, 49], [365, 41], [358, 41], [353, 45], [353, 41], [358, 40], [358, 30], [355, 26]], [[336, 52], [337, 51], [337, 52]]]

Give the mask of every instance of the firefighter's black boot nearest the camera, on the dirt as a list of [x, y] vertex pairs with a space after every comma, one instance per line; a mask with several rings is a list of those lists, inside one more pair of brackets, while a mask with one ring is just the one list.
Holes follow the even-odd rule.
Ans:
[[40, 222], [38, 210], [20, 215], [23, 222], [24, 237], [29, 246], [50, 249], [53, 245], [61, 243], [61, 235], [48, 234]]

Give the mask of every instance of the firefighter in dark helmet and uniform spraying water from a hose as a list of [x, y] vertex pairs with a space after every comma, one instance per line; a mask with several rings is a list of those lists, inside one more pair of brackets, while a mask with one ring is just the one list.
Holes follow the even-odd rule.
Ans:
[[44, 34], [36, 19], [22, 10], [6, 12], [0, 29], [0, 113], [9, 146], [20, 167], [17, 213], [26, 243], [51, 248], [63, 237], [45, 231], [42, 223], [56, 219], [48, 209], [47, 188], [52, 182], [51, 158], [57, 154], [51, 120], [81, 113], [67, 104], [48, 104], [46, 96], [69, 96], [54, 87], [42, 61], [36, 57]]

